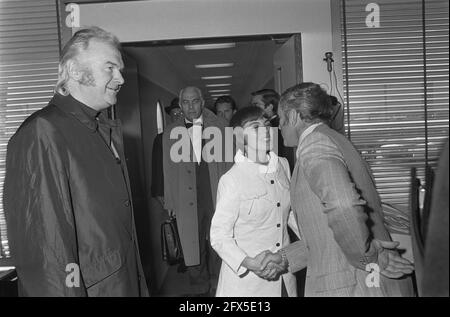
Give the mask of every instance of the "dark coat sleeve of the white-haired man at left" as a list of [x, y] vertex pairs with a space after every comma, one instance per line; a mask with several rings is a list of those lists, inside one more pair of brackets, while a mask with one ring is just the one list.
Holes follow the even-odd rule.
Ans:
[[47, 132], [34, 122], [8, 146], [4, 207], [20, 291], [25, 296], [86, 296], [82, 273], [77, 274], [69, 179]]

